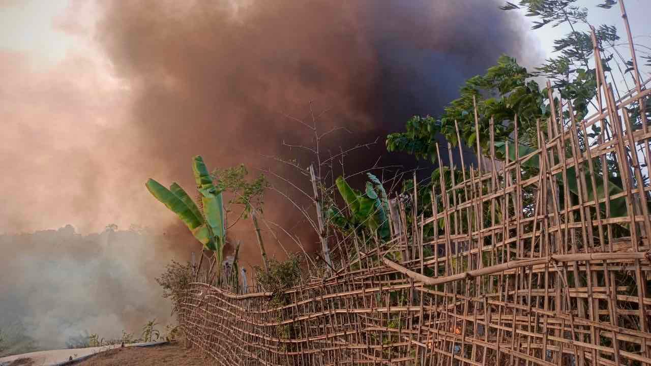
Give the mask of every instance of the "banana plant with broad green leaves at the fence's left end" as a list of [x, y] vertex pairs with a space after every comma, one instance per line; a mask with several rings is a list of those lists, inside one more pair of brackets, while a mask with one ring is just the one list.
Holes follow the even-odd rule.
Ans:
[[150, 178], [145, 186], [158, 201], [165, 204], [186, 224], [205, 249], [215, 253], [218, 263], [217, 271], [219, 271], [221, 270], [226, 238], [222, 192], [217, 190], [213, 184], [212, 177], [201, 156], [193, 158], [192, 170], [197, 183], [197, 191], [200, 193], [202, 210], [199, 210], [197, 204], [176, 182], [167, 189]]

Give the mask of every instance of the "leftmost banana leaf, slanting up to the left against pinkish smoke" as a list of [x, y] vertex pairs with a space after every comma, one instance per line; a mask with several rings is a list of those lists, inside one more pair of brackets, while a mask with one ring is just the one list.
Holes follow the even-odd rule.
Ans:
[[[151, 178], [146, 182], [145, 186], [147, 187], [147, 190], [158, 199], [158, 201], [165, 204], [167, 208], [186, 223], [187, 228], [190, 229], [192, 234], [197, 238], [197, 240], [199, 240], [199, 242], [201, 242], [201, 244], [204, 246], [210, 245], [210, 232], [206, 225], [204, 225], [204, 220], [201, 214], [198, 214], [199, 210], [192, 200], [189, 200], [191, 205], [187, 204], [185, 199], [178, 197], [178, 195], [174, 194], [173, 191], [168, 190], [165, 186]], [[178, 184], [176, 186], [178, 187]], [[181, 189], [181, 191], [183, 190]], [[185, 193], [185, 191], [183, 191], [183, 193]], [[195, 209], [193, 209], [193, 207]]]

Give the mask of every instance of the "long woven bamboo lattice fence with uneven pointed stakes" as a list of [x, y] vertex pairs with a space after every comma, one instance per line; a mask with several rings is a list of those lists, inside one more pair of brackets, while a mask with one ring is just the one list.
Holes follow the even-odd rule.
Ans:
[[[218, 365], [651, 365], [651, 132], [630, 109], [646, 120], [651, 91], [636, 65], [635, 89], [615, 98], [594, 54], [596, 115], [575, 121], [550, 98], [534, 152], [450, 166], [463, 179], [441, 181], [432, 217], [407, 227], [416, 210], [403, 205], [388, 242], [340, 240], [326, 279], [276, 294], [191, 283], [187, 340]], [[601, 133], [586, 143], [592, 126]], [[426, 225], [440, 229], [426, 238]]]

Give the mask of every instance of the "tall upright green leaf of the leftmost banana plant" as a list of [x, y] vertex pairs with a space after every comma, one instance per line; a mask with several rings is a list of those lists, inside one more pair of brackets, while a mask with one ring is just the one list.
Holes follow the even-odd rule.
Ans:
[[226, 234], [222, 193], [213, 184], [212, 177], [208, 173], [206, 164], [201, 156], [197, 155], [194, 157], [192, 170], [195, 175], [195, 182], [197, 182], [197, 190], [201, 193], [204, 219], [214, 236], [217, 255], [221, 256]]

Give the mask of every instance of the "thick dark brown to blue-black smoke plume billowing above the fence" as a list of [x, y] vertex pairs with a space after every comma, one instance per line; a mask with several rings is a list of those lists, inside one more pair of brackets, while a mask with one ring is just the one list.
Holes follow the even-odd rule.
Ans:
[[[187, 186], [194, 154], [268, 167], [260, 154], [287, 156], [281, 141], [309, 145], [283, 113], [309, 120], [310, 101], [314, 113], [329, 109], [323, 131], [354, 132], [328, 148], [381, 138], [346, 162], [372, 165], [387, 133], [439, 113], [501, 53], [520, 54], [513, 19], [497, 1], [119, 1], [107, 6], [98, 39], [135, 88], [132, 126], [146, 169]], [[272, 217], [286, 212], [273, 203]]]

